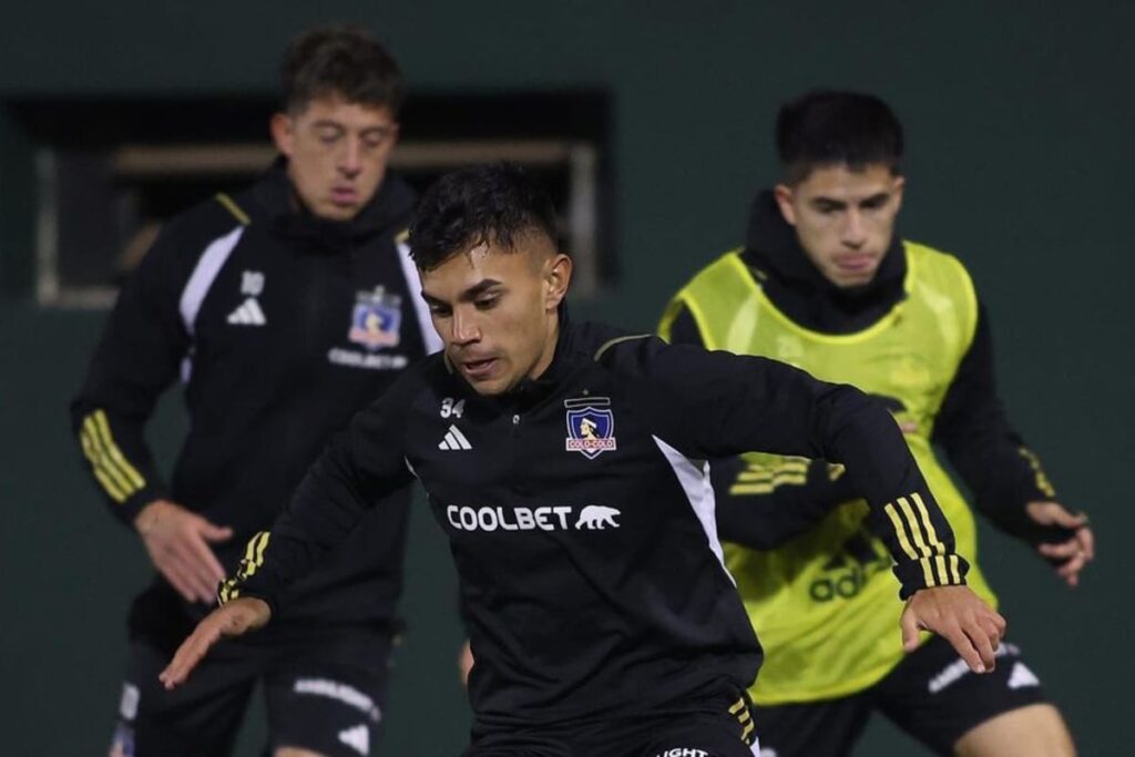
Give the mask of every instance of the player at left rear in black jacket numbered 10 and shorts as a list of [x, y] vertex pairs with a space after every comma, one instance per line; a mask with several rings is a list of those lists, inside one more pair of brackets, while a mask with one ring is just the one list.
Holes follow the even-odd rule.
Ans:
[[[157, 674], [213, 604], [330, 434], [440, 348], [402, 236], [414, 196], [387, 161], [397, 65], [353, 27], [313, 30], [283, 61], [278, 161], [253, 186], [174, 218], [126, 281], [72, 405], [112, 512], [157, 569], [129, 614], [112, 755], [222, 755], [253, 685], [275, 757], [358, 757], [378, 737], [410, 494], [387, 493], [266, 633], [167, 691]], [[143, 431], [185, 386], [169, 483]]]

